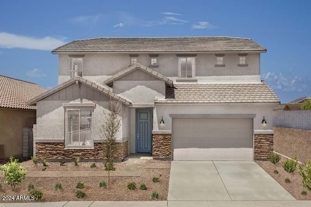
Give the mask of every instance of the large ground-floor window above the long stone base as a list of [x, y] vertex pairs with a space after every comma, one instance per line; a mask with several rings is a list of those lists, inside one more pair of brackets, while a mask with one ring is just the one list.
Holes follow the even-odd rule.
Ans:
[[67, 110], [67, 146], [92, 146], [92, 110]]

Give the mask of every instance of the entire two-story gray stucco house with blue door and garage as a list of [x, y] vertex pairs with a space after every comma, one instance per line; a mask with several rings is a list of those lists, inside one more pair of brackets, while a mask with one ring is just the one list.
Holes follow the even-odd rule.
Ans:
[[104, 159], [110, 99], [124, 106], [117, 159], [254, 160], [273, 150], [273, 107], [260, 80], [266, 48], [236, 37], [95, 38], [52, 50], [59, 85], [36, 105], [35, 153]]

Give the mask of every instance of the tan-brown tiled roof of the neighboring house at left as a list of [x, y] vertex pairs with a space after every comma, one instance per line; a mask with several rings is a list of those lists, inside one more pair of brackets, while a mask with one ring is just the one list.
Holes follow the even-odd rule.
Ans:
[[35, 110], [26, 101], [45, 92], [46, 89], [32, 82], [0, 75], [0, 107]]

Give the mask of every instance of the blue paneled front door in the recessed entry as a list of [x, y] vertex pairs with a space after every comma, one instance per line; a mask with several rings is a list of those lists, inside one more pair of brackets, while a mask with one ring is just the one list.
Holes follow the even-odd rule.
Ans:
[[151, 110], [137, 110], [136, 152], [151, 153]]

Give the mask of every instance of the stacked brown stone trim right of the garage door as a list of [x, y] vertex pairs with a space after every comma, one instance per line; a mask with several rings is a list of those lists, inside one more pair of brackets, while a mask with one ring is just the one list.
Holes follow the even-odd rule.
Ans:
[[273, 134], [254, 134], [254, 158], [269, 159], [273, 152]]

